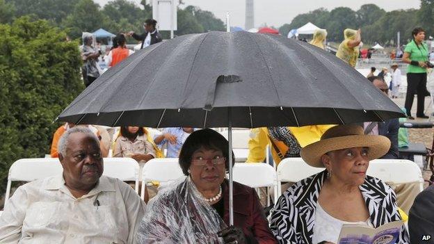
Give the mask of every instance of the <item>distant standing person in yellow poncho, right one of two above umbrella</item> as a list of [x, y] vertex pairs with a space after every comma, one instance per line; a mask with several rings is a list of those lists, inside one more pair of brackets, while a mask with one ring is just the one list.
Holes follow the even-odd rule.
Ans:
[[360, 35], [360, 29], [345, 29], [344, 40], [339, 44], [337, 48], [336, 56], [341, 60], [344, 60], [348, 65], [355, 67], [357, 58], [359, 57], [359, 44], [362, 42]]

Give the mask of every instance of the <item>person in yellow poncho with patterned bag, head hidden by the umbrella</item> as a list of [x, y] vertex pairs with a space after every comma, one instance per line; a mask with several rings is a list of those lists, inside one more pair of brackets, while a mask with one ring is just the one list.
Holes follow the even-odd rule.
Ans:
[[246, 163], [264, 162], [266, 147], [276, 165], [283, 158], [299, 157], [301, 147], [319, 141], [325, 131], [334, 125], [309, 125], [305, 127], [261, 127], [250, 131], [249, 154]]

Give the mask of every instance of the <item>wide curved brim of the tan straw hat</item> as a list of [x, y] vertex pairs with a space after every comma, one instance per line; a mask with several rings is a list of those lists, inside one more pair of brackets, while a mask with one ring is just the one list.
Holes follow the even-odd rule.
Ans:
[[303, 147], [300, 156], [308, 165], [316, 168], [324, 168], [323, 162], [321, 161], [321, 157], [324, 154], [352, 147], [368, 147], [368, 158], [369, 161], [371, 161], [389, 152], [390, 140], [385, 136], [374, 135], [339, 136], [320, 140]]

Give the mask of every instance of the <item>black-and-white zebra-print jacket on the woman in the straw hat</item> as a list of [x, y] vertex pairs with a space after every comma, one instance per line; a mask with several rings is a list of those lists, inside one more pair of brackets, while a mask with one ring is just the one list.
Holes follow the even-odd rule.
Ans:
[[[319, 172], [298, 181], [280, 196], [271, 211], [271, 231], [279, 243], [312, 243], [316, 202], [327, 172]], [[369, 210], [374, 227], [401, 220], [396, 205], [396, 195], [390, 186], [380, 179], [367, 176], [359, 186]], [[402, 227], [399, 244], [410, 243], [405, 227]]]

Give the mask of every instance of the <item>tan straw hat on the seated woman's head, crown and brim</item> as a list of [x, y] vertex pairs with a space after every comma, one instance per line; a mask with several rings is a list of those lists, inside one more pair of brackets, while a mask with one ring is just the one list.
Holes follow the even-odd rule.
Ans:
[[328, 152], [351, 147], [369, 147], [369, 161], [385, 155], [390, 140], [385, 136], [364, 135], [363, 128], [355, 124], [332, 127], [325, 131], [321, 140], [301, 149], [303, 160], [316, 168], [324, 168], [321, 156]]

